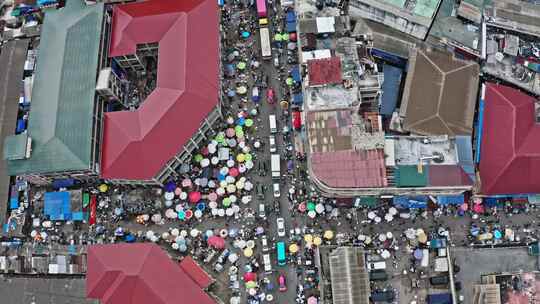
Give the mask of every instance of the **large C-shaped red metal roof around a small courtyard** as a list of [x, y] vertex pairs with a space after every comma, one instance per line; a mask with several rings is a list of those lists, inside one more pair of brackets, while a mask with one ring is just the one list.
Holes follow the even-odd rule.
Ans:
[[214, 0], [114, 7], [110, 56], [158, 42], [158, 71], [156, 89], [139, 109], [105, 114], [102, 178], [152, 179], [218, 104], [218, 21]]

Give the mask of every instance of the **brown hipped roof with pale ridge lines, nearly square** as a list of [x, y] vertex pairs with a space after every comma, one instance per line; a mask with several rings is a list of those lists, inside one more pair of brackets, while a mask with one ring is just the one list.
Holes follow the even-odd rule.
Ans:
[[478, 64], [424, 50], [414, 51], [409, 62], [401, 107], [404, 129], [423, 135], [470, 135]]

